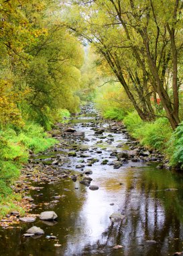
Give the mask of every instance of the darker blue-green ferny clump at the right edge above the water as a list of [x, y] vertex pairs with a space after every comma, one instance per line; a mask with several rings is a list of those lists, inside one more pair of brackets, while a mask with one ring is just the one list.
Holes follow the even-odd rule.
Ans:
[[172, 166], [183, 168], [183, 122], [172, 133], [166, 152]]

